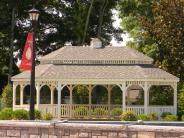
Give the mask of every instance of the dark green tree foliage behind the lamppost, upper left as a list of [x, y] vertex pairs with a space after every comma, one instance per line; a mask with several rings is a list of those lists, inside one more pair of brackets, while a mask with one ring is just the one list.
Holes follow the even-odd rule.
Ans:
[[[97, 37], [99, 28], [101, 30], [99, 31], [101, 32], [101, 38], [104, 42], [109, 42], [111, 36], [116, 31], [112, 26], [111, 9], [116, 6], [118, 0], [108, 0], [108, 4], [105, 4], [105, 7], [103, 6], [103, 14], [101, 15], [99, 13], [102, 1], [94, 1], [86, 31], [85, 24], [91, 0], [35, 1], [36, 8], [41, 12], [39, 29], [37, 30], [37, 54], [47, 54], [60, 48], [66, 41], [72, 41], [74, 45], [81, 45], [84, 32], [86, 33], [84, 43], [89, 44], [91, 37]], [[16, 7], [15, 11], [12, 10], [13, 7]], [[2, 59], [3, 66], [6, 65], [8, 67], [8, 63], [5, 61], [6, 58], [9, 59], [11, 57], [10, 55], [12, 55], [10, 41], [11, 45], [14, 42], [13, 52], [19, 50], [20, 55], [22, 55], [26, 35], [31, 28], [27, 13], [31, 8], [31, 0], [24, 2], [11, 0], [0, 1], [0, 50], [1, 53], [5, 53]], [[13, 24], [12, 17], [15, 17], [12, 16], [14, 12], [16, 15], [15, 28], [11, 26], [11, 22]], [[101, 20], [100, 25], [98, 25], [99, 18]], [[14, 30], [14, 35], [11, 33], [13, 32], [11, 30]], [[11, 36], [14, 36], [14, 39], [11, 39], [13, 38]], [[15, 73], [13, 72], [13, 75]]]

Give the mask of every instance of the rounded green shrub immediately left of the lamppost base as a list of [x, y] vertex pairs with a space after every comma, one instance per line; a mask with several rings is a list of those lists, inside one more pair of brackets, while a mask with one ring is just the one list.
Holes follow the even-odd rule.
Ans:
[[29, 118], [28, 111], [24, 109], [15, 110], [13, 112], [13, 118], [18, 120], [27, 120]]

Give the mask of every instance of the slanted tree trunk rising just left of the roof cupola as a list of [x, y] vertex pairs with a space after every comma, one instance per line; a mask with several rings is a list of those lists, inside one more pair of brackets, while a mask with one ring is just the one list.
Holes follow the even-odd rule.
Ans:
[[88, 10], [88, 15], [87, 15], [87, 18], [86, 18], [86, 24], [85, 24], [85, 28], [84, 28], [84, 35], [83, 35], [83, 39], [82, 39], [82, 44], [84, 44], [84, 42], [86, 40], [86, 34], [87, 34], [88, 25], [89, 25], [89, 18], [90, 18], [90, 15], [91, 15], [91, 11], [92, 11], [92, 8], [93, 8], [94, 1], [95, 0], [91, 0], [91, 4], [90, 4], [89, 10]]

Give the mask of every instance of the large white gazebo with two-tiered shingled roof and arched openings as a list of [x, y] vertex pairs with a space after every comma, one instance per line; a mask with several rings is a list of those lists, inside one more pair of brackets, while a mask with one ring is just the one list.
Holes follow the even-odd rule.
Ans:
[[[152, 62], [150, 57], [128, 47], [101, 47], [95, 42], [90, 46], [64, 46], [43, 56], [36, 66], [35, 108], [50, 112], [55, 118], [110, 117], [114, 108], [133, 111], [137, 115], [176, 114], [179, 79], [154, 67]], [[12, 81], [13, 109], [29, 110], [30, 71], [14, 76]], [[87, 91], [81, 98], [87, 99], [86, 102], [75, 102], [73, 95], [77, 86]], [[152, 86], [169, 86], [173, 91], [172, 105], [151, 105], [149, 91]], [[116, 96], [114, 87], [119, 89], [120, 96]], [[98, 94], [102, 92], [98, 90], [102, 89], [106, 94], [100, 94], [103, 99], [100, 102]], [[144, 100], [136, 105], [141, 92]], [[113, 102], [116, 98], [119, 102]], [[79, 109], [81, 111], [77, 112]], [[98, 115], [93, 114], [95, 110]]]

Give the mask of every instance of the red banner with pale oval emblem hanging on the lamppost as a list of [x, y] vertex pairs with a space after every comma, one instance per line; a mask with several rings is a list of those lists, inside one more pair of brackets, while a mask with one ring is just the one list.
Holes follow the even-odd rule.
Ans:
[[19, 68], [22, 70], [31, 70], [32, 68], [32, 52], [33, 52], [33, 34], [28, 33], [22, 60]]

